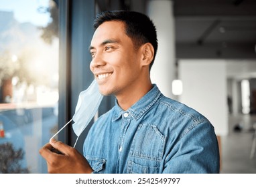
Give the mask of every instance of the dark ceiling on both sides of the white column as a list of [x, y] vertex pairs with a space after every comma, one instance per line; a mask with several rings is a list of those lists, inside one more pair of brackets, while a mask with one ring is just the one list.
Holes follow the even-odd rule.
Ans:
[[[147, 1], [97, 3], [102, 11], [146, 13]], [[172, 1], [177, 59], [226, 59], [229, 77], [256, 77], [256, 0]]]

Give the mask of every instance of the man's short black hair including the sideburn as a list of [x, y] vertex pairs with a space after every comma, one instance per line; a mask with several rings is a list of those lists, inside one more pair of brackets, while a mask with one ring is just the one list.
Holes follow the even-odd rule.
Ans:
[[125, 33], [133, 41], [135, 49], [149, 42], [155, 51], [149, 69], [153, 65], [157, 52], [157, 33], [153, 21], [147, 15], [135, 11], [103, 11], [94, 19], [94, 29], [106, 21], [121, 21], [125, 23]]

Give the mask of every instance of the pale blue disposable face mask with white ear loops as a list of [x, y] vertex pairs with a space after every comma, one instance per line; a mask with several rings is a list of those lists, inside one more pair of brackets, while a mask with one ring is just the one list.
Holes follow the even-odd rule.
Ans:
[[[84, 129], [88, 126], [90, 120], [92, 120], [92, 118], [97, 113], [102, 100], [103, 95], [101, 95], [97, 81], [94, 79], [94, 81], [92, 81], [86, 90], [80, 92], [73, 118], [68, 123], [66, 123], [56, 134], [54, 134], [54, 136], [56, 136], [73, 120], [74, 124], [72, 125], [72, 128], [77, 136], [77, 142], [80, 134], [82, 134]], [[54, 136], [52, 136], [52, 138], [54, 138]], [[76, 146], [76, 142], [74, 147]]]

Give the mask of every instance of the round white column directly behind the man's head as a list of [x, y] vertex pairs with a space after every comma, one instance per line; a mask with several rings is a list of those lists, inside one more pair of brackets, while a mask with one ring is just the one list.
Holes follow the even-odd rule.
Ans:
[[173, 2], [149, 0], [147, 15], [157, 29], [158, 50], [151, 69], [151, 81], [169, 98], [172, 94], [172, 81], [175, 79], [175, 34]]

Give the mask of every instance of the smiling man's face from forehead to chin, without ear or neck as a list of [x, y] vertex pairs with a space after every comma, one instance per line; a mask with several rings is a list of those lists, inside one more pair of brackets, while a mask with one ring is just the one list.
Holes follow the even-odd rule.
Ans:
[[141, 55], [139, 50], [135, 51], [121, 21], [107, 21], [97, 28], [90, 53], [90, 70], [103, 95], [127, 94], [138, 85]]

